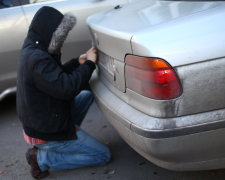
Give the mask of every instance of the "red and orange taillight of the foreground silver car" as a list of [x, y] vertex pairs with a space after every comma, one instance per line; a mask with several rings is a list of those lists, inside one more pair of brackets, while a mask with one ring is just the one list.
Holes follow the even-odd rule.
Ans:
[[163, 59], [127, 55], [126, 87], [149, 98], [166, 100], [181, 95], [174, 69]]

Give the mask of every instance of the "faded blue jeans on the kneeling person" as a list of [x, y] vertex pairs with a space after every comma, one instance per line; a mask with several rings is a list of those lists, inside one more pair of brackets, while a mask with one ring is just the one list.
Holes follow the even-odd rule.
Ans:
[[[75, 97], [71, 112], [76, 126], [81, 125], [92, 102], [93, 95], [87, 90]], [[35, 146], [38, 148], [37, 162], [42, 171], [103, 165], [111, 159], [107, 146], [82, 129], [77, 130], [76, 140], [50, 141]]]

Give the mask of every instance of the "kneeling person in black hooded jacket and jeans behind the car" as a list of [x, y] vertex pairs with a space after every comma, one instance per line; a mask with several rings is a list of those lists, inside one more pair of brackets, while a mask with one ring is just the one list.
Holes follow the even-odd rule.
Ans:
[[21, 51], [17, 112], [24, 138], [33, 145], [26, 158], [37, 179], [48, 176], [50, 169], [103, 165], [111, 157], [105, 145], [80, 128], [93, 102], [85, 88], [95, 69], [97, 49], [65, 64], [60, 60], [63, 42], [75, 23], [70, 14], [42, 7]]

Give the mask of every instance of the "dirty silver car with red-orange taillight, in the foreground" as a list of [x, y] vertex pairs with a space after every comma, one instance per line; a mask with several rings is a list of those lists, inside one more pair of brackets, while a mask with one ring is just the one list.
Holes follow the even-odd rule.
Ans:
[[142, 0], [88, 18], [96, 102], [171, 170], [225, 168], [225, 2]]

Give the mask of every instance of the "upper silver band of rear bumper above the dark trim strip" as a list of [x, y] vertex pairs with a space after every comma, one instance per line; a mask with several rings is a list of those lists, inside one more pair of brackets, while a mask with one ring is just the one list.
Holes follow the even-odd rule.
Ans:
[[[121, 119], [123, 120], [121, 121], [124, 125], [139, 135], [147, 138], [165, 138], [196, 132], [199, 130], [197, 127], [201, 125], [210, 124], [212, 129], [225, 126], [225, 124], [221, 124], [222, 122], [224, 123], [225, 120], [224, 109], [172, 118], [149, 116], [121, 99], [120, 97], [123, 96], [124, 93], [114, 88], [113, 85], [109, 83], [105, 85], [102, 79], [99, 79], [98, 73], [99, 71], [97, 70], [91, 79], [91, 87], [97, 97], [96, 100], [102, 101], [101, 103], [106, 104], [110, 111], [113, 111], [118, 116], [122, 116]], [[110, 88], [111, 91], [109, 91], [108, 88]], [[107, 101], [105, 101], [105, 99], [107, 99]], [[213, 126], [213, 123], [220, 123], [220, 126]], [[179, 131], [187, 127], [189, 127], [189, 131]], [[200, 130], [209, 130], [209, 128], [205, 127], [204, 129], [202, 126]], [[170, 133], [171, 131], [172, 133]]]

